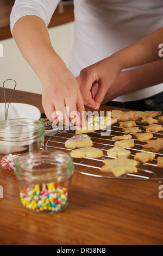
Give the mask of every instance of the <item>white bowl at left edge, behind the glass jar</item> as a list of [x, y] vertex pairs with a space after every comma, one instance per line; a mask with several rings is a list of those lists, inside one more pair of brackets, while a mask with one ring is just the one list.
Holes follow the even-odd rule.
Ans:
[[[8, 103], [7, 103], [8, 107]], [[41, 113], [40, 110], [32, 105], [23, 104], [23, 103], [10, 103], [8, 111], [8, 120], [9, 119], [18, 119], [18, 118], [30, 118], [35, 120], [40, 120]], [[5, 103], [0, 103], [0, 121], [5, 120]]]

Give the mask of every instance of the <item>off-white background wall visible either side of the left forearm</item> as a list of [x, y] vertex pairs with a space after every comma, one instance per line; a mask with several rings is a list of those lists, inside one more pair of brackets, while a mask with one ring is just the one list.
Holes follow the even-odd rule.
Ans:
[[[52, 45], [68, 66], [73, 44], [74, 22], [49, 29]], [[17, 82], [17, 90], [41, 94], [41, 82], [33, 69], [23, 58], [14, 39], [0, 41], [3, 45], [3, 57], [0, 57], [0, 86], [3, 81], [12, 78]], [[6, 83], [11, 88], [11, 83]]]

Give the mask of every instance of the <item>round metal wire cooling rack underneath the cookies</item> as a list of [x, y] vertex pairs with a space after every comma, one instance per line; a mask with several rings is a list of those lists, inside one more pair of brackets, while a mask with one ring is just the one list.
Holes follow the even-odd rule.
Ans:
[[[162, 123], [159, 123], [162, 124]], [[147, 132], [143, 129], [143, 126], [149, 124], [141, 123], [140, 121], [136, 121], [136, 126], [138, 126], [142, 132]], [[116, 159], [116, 157], [109, 157], [107, 156], [107, 151], [109, 148], [116, 147], [114, 143], [115, 140], [111, 138], [115, 136], [124, 135], [122, 131], [123, 127], [120, 127], [119, 124], [111, 125], [106, 127], [105, 131], [95, 131], [93, 133], [87, 133], [93, 142], [93, 147], [101, 149], [103, 151], [104, 156], [100, 159], [91, 159], [89, 157], [85, 157], [83, 159], [74, 159], [74, 172], [95, 176], [99, 178], [107, 178], [107, 179], [121, 179], [121, 180], [156, 180], [159, 183], [163, 180], [163, 168], [159, 168], [157, 166], [157, 157], [163, 157], [163, 149], [155, 152], [153, 149], [148, 149], [148, 152], [155, 153], [156, 157], [152, 162], [141, 163], [137, 165], [138, 172], [135, 174], [127, 173], [120, 177], [115, 177], [112, 173], [103, 173], [101, 172], [101, 167], [103, 166], [104, 159]], [[110, 133], [110, 135], [106, 136], [106, 132]], [[163, 132], [151, 132], [153, 133], [152, 139], [157, 139], [163, 137]], [[65, 141], [68, 138], [71, 138], [75, 135], [74, 131], [58, 131], [54, 136], [50, 137], [46, 143], [46, 149], [53, 149], [53, 150], [64, 150], [66, 153], [70, 154], [71, 149], [65, 148]], [[125, 148], [131, 151], [130, 159], [134, 159], [134, 156], [138, 152], [147, 151], [146, 149], [142, 148], [143, 142], [137, 141], [135, 136], [130, 133], [132, 138], [135, 141], [134, 148]]]

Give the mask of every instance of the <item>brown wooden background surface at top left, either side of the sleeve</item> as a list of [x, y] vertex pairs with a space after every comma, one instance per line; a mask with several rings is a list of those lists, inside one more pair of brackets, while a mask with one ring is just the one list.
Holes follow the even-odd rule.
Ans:
[[[15, 0], [0, 1], [0, 40], [11, 38], [10, 13]], [[61, 3], [55, 10], [49, 28], [74, 21], [73, 3]]]

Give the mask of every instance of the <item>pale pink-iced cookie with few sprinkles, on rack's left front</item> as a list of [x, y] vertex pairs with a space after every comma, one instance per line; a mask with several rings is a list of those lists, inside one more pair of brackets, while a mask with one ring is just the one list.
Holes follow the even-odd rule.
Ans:
[[93, 142], [86, 134], [75, 135], [65, 142], [65, 147], [68, 149], [84, 148], [92, 145]]

